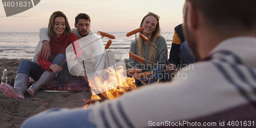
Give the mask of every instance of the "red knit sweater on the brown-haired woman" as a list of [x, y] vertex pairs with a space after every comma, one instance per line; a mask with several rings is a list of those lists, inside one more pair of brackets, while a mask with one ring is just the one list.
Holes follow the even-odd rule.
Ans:
[[[49, 56], [48, 60], [44, 60], [39, 55], [38, 56], [39, 66], [47, 71], [51, 71], [50, 66], [52, 65], [52, 62], [55, 56], [57, 56], [60, 53], [66, 55], [66, 48], [70, 44], [73, 45], [74, 44], [73, 42], [75, 42], [76, 40], [77, 40], [77, 37], [75, 36], [74, 33], [71, 33], [69, 36], [62, 34], [61, 37], [54, 36], [54, 38], [51, 38], [50, 39], [51, 56]], [[79, 44], [76, 44], [74, 46], [75, 46], [75, 50], [78, 50], [80, 48]], [[77, 54], [79, 54], [80, 56], [81, 52], [79, 51], [77, 52]]]

